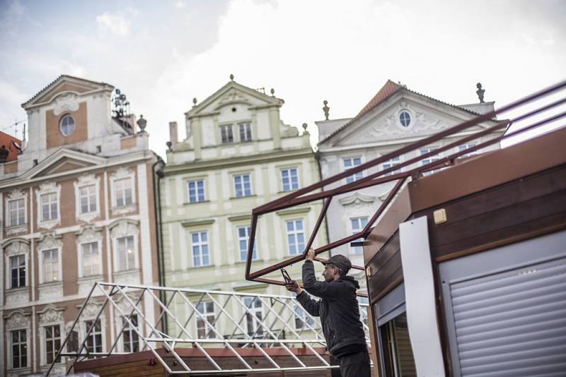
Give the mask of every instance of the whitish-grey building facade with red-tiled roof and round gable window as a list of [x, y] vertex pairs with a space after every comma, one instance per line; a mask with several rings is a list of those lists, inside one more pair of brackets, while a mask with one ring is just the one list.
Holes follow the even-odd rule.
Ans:
[[[403, 148], [409, 143], [492, 111], [495, 102], [483, 102], [484, 91], [480, 84], [478, 84], [478, 88], [480, 102], [455, 106], [427, 97], [408, 89], [405, 85], [388, 80], [356, 116], [346, 119], [328, 119], [329, 109], [325, 103], [324, 110], [327, 119], [316, 121], [318, 126], [318, 161], [322, 179], [345, 172], [347, 169], [374, 160], [388, 152]], [[496, 123], [497, 121], [492, 119], [470, 128], [470, 130], [487, 128]], [[466, 150], [488, 138], [499, 136], [501, 133], [490, 134], [490, 136], [463, 143], [458, 145], [456, 150]], [[377, 167], [352, 174], [342, 181], [325, 186], [325, 190], [356, 181], [381, 169], [395, 167], [405, 160], [441, 148], [469, 134], [470, 131], [463, 131], [432, 145], [426, 145], [419, 150], [413, 150], [403, 156], [396, 157], [394, 160], [383, 162]], [[466, 154], [464, 157], [498, 148], [499, 143], [495, 143], [483, 150]], [[438, 158], [431, 157], [417, 164], [426, 164], [438, 160]], [[393, 172], [403, 172], [416, 167], [417, 164], [408, 165]], [[434, 171], [425, 174], [434, 174]], [[341, 239], [364, 229], [368, 220], [383, 203], [394, 184], [394, 181], [388, 182], [387, 184], [345, 193], [334, 198], [327, 212], [328, 238], [330, 240]], [[364, 265], [362, 246], [346, 244], [334, 249], [332, 253], [344, 254], [350, 257], [352, 263]], [[366, 279], [363, 272], [359, 273], [358, 278], [359, 282], [363, 282], [365, 286]]]

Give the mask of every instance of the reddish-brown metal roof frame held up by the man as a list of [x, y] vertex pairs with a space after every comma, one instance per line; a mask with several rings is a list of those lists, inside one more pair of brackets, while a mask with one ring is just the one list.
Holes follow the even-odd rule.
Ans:
[[[482, 150], [483, 148], [499, 143], [502, 140], [514, 137], [516, 138], [517, 136], [526, 136], [529, 131], [536, 130], [543, 126], [557, 126], [557, 122], [566, 116], [563, 106], [566, 103], [565, 88], [566, 81], [562, 81], [550, 88], [533, 93], [532, 95], [524, 97], [521, 100], [517, 100], [516, 102], [512, 102], [511, 104], [507, 104], [495, 111], [487, 112], [465, 121], [462, 124], [458, 124], [432, 136], [417, 140], [414, 143], [405, 145], [403, 148], [386, 153], [381, 157], [365, 162], [364, 164], [352, 169], [348, 169], [347, 171], [336, 174], [335, 176], [323, 179], [317, 184], [311, 184], [310, 186], [300, 188], [299, 190], [282, 196], [275, 201], [254, 208], [250, 225], [248, 255], [246, 257], [246, 280], [274, 285], [284, 285], [285, 283], [283, 280], [273, 280], [265, 278], [264, 276], [273, 273], [280, 268], [297, 263], [306, 257], [306, 252], [311, 248], [316, 234], [318, 233], [318, 229], [320, 229], [320, 225], [322, 225], [326, 211], [330, 205], [330, 201], [337, 195], [380, 184], [387, 184], [388, 182], [394, 182], [393, 188], [389, 191], [387, 197], [383, 200], [383, 203], [381, 203], [380, 207], [376, 210], [376, 213], [374, 213], [371, 219], [369, 219], [364, 229], [356, 234], [352, 234], [336, 241], [331, 241], [330, 244], [318, 247], [315, 249], [317, 255], [357, 239], [366, 239], [373, 230], [374, 224], [379, 219], [383, 211], [388, 208], [388, 205], [390, 205], [391, 201], [393, 201], [396, 194], [405, 184], [408, 184], [409, 181], [418, 179], [424, 173], [449, 167], [452, 164], [457, 163], [456, 160], [458, 158], [466, 157], [466, 155], [470, 155], [470, 153]], [[510, 116], [510, 119], [498, 121], [496, 116], [501, 114]], [[490, 122], [492, 123], [492, 126], [483, 125]], [[511, 130], [509, 128], [512, 125], [514, 127]], [[564, 126], [564, 124], [558, 124], [558, 126]], [[421, 148], [430, 146], [432, 143], [439, 143], [440, 140], [447, 137], [451, 137], [451, 140], [456, 138], [456, 141], [447, 142], [439, 148], [427, 149], [427, 152], [421, 152], [421, 154], [417, 157], [408, 155], [410, 152], [413, 152], [414, 154], [415, 151], [418, 152]], [[481, 142], [477, 141], [480, 138], [488, 138], [488, 140]], [[470, 142], [474, 142], [474, 140], [476, 140], [476, 143], [473, 147], [466, 149], [458, 148], [460, 145], [466, 145]], [[454, 150], [458, 151], [454, 152]], [[388, 167], [386, 169], [379, 169], [380, 164], [404, 155], [406, 158], [400, 158], [399, 163], [395, 164], [395, 166]], [[368, 169], [371, 168], [377, 169], [377, 172], [368, 172]], [[402, 172], [397, 172], [400, 169], [404, 170]], [[325, 189], [325, 187], [358, 172], [366, 172], [367, 174], [362, 179], [357, 179], [349, 184], [344, 184], [336, 188]], [[274, 265], [267, 266], [257, 271], [251, 271], [258, 218], [262, 215], [281, 211], [296, 205], [304, 205], [306, 203], [321, 200], [323, 201], [323, 207], [318, 215], [318, 220], [313, 232], [311, 233], [311, 237], [308, 239], [304, 252], [292, 258], [287, 258], [279, 263], [275, 263]], [[320, 260], [320, 258], [316, 259]], [[356, 270], [364, 270], [364, 267], [359, 265], [353, 265], [352, 268]], [[359, 296], [367, 295], [359, 294]]]

